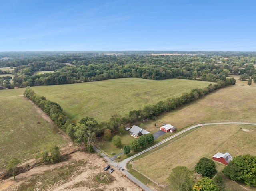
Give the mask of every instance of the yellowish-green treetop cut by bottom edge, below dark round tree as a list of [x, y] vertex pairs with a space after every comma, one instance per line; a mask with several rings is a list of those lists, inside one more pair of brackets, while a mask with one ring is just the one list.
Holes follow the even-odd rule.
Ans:
[[192, 187], [192, 191], [220, 191], [218, 185], [216, 185], [212, 179], [205, 177]]

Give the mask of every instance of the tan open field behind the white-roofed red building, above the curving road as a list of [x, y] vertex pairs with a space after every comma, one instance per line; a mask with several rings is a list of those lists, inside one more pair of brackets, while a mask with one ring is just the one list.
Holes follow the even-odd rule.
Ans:
[[157, 128], [163, 123], [182, 129], [193, 124], [210, 122], [256, 122], [256, 85], [234, 85], [218, 89], [190, 104], [166, 112], [156, 121], [144, 124], [146, 130]]

